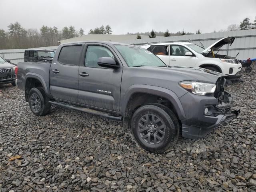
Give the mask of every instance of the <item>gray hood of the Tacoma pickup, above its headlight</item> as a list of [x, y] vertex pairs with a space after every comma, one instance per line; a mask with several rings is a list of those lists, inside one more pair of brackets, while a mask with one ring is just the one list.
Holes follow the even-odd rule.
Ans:
[[[207, 82], [215, 84], [220, 77], [228, 77], [222, 73], [218, 73], [212, 70], [204, 69], [204, 68], [190, 68], [190, 67], [174, 67], [174, 66], [166, 66], [166, 67], [140, 67], [148, 70], [158, 71], [160, 74], [164, 75], [165, 73], [170, 75], [170, 78], [174, 77], [178, 81], [198, 81], [198, 82]], [[153, 72], [152, 72], [153, 73]]]

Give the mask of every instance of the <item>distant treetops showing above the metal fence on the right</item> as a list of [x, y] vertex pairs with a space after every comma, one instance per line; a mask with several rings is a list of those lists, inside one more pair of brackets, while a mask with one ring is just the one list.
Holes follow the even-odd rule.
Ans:
[[[245, 18], [242, 22], [240, 22], [240, 25], [231, 24], [225, 30], [221, 29], [218, 32], [247, 30], [247, 29], [256, 29], [256, 17], [255, 17], [253, 23], [250, 23], [249, 18]], [[214, 30], [213, 32], [217, 32], [217, 31]], [[200, 29], [196, 30], [196, 34], [201, 34], [201, 33], [202, 33], [202, 31]], [[162, 32], [162, 31], [157, 32], [152, 29], [150, 32], [140, 32], [140, 33], [139, 32], [137, 32], [137, 33], [129, 33], [128, 32], [127, 34], [137, 35], [136, 39], [141, 39], [141, 35], [149, 36], [149, 38], [155, 38], [156, 36], [169, 37], [169, 36], [179, 36], [179, 35], [191, 35], [194, 33], [185, 32], [184, 29], [182, 31], [178, 31], [176, 33], [169, 32], [168, 29], [165, 32]]]

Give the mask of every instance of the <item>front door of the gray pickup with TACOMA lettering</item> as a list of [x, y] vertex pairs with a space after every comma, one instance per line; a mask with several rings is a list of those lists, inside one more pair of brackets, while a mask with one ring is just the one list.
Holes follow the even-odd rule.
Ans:
[[98, 58], [116, 54], [109, 46], [100, 43], [87, 44], [84, 64], [79, 68], [78, 102], [111, 111], [119, 111], [122, 64], [114, 70], [98, 65]]

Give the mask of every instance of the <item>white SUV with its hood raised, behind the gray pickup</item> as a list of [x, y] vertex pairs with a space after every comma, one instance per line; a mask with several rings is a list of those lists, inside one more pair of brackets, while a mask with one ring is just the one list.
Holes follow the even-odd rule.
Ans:
[[189, 42], [148, 44], [142, 48], [156, 54], [166, 65], [202, 67], [229, 75], [230, 78], [239, 78], [241, 63], [235, 58], [217, 54], [223, 45], [232, 44], [234, 39], [234, 37], [222, 38], [206, 49]]

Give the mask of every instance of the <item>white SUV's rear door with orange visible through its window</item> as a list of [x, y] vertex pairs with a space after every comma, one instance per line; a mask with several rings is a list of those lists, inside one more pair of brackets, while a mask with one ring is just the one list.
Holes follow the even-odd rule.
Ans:
[[169, 45], [152, 45], [151, 52], [156, 54], [166, 65], [169, 65], [170, 46]]

